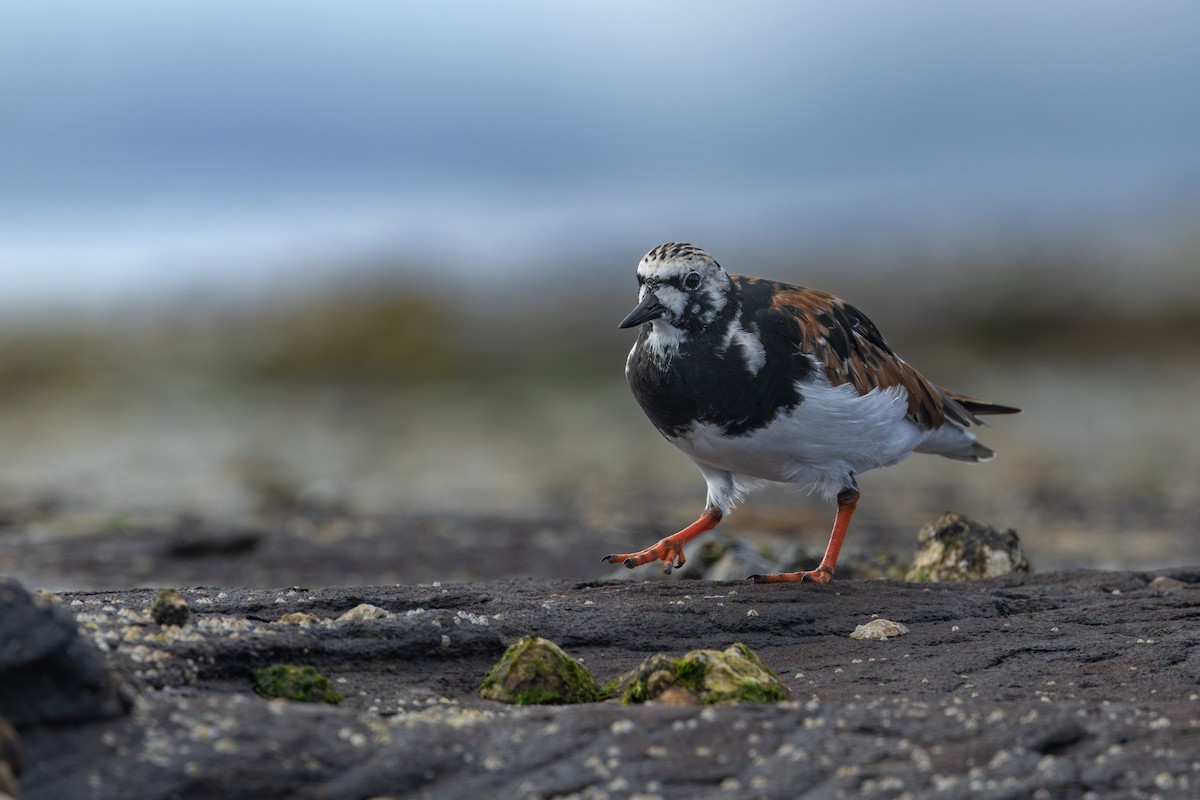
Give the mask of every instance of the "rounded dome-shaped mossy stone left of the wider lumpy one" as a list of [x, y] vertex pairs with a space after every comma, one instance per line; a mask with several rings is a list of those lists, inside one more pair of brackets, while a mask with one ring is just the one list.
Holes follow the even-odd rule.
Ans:
[[538, 636], [509, 648], [484, 678], [479, 694], [514, 705], [593, 703], [605, 697], [587, 667]]

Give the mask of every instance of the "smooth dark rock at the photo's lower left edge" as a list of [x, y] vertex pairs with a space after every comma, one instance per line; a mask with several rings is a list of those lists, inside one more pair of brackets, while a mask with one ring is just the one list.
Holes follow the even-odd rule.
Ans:
[[22, 728], [108, 720], [127, 708], [119, 676], [71, 614], [0, 579], [0, 716]]

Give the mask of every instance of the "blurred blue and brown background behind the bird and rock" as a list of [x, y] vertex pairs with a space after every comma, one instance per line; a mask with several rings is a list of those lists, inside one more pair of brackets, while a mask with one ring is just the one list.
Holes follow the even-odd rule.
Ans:
[[[1026, 409], [991, 464], [864, 476], [847, 549], [906, 558], [954, 509], [1037, 569], [1200, 563], [1198, 29], [1183, 0], [6, 4], [0, 572], [619, 577], [704, 498], [623, 378], [662, 241]], [[772, 489], [722, 530], [820, 557], [832, 517]]]

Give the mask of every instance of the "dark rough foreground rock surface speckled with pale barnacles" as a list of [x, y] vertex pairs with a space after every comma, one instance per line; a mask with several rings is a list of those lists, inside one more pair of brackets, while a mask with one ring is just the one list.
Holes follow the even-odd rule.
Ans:
[[[116, 718], [20, 721], [26, 800], [1200, 792], [1200, 567], [953, 584], [536, 579], [181, 594], [186, 627], [152, 620], [151, 590], [59, 596], [64, 613], [49, 624], [74, 615], [138, 692]], [[362, 604], [386, 613], [343, 616]], [[872, 614], [908, 633], [850, 638]], [[740, 642], [792, 699], [480, 698], [491, 666], [530, 634], [600, 681], [655, 652]], [[312, 666], [346, 699], [258, 697], [252, 672], [272, 663]]]

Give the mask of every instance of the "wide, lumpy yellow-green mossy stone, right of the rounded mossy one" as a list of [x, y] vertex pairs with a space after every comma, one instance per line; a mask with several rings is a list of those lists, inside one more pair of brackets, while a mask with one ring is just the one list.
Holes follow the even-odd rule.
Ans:
[[647, 703], [688, 692], [703, 704], [776, 703], [788, 699], [779, 676], [754, 650], [732, 644], [725, 650], [692, 650], [682, 658], [655, 654], [618, 679], [623, 703]]

